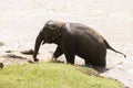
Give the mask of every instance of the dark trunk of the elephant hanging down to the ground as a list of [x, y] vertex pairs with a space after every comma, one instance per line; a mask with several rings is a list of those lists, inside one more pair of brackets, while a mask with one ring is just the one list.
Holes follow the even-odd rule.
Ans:
[[33, 53], [33, 59], [34, 59], [34, 62], [38, 62], [38, 61], [39, 61], [39, 59], [37, 59], [37, 54], [38, 54], [39, 48], [40, 48], [40, 45], [41, 45], [41, 43], [42, 43], [42, 41], [43, 41], [43, 37], [42, 37], [42, 36], [43, 36], [43, 35], [42, 35], [42, 31], [41, 31], [41, 32], [39, 33], [37, 40], [35, 40], [34, 53]]

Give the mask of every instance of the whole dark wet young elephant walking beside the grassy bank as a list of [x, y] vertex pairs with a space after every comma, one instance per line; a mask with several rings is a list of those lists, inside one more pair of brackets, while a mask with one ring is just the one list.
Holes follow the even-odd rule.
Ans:
[[85, 65], [105, 67], [106, 48], [124, 55], [112, 48], [106, 40], [93, 29], [80, 23], [48, 21], [35, 40], [34, 62], [39, 61], [37, 54], [41, 43], [57, 44], [53, 57], [57, 59], [64, 54], [66, 62], [72, 65], [78, 55], [85, 61]]

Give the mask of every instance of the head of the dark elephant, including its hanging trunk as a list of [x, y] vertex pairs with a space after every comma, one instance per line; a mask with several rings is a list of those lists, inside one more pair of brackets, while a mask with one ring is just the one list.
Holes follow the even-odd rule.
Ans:
[[40, 31], [39, 35], [35, 40], [34, 45], [34, 54], [33, 58], [34, 62], [38, 62], [37, 54], [39, 52], [41, 43], [57, 43], [61, 38], [61, 28], [63, 26], [63, 22], [57, 22], [57, 21], [48, 21], [44, 25], [44, 28]]

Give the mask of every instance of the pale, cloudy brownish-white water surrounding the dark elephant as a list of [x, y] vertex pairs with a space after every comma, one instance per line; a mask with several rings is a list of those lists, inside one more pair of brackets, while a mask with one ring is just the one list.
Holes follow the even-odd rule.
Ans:
[[[6, 51], [33, 48], [39, 31], [48, 20], [78, 22], [100, 32], [122, 55], [108, 51], [108, 68], [103, 76], [113, 77], [133, 88], [133, 1], [132, 0], [1, 0], [0, 1], [0, 56]], [[40, 59], [51, 57], [55, 45], [40, 48]], [[32, 56], [28, 56], [32, 58]], [[63, 56], [61, 58], [64, 58]], [[4, 64], [14, 61], [0, 57]], [[17, 61], [20, 63], [22, 61]], [[76, 64], [83, 61], [76, 57]]]

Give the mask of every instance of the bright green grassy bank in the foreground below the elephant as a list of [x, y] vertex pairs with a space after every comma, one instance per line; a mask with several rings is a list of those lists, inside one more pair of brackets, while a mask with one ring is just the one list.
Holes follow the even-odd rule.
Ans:
[[83, 74], [71, 65], [41, 63], [0, 69], [0, 88], [123, 88], [123, 85]]

